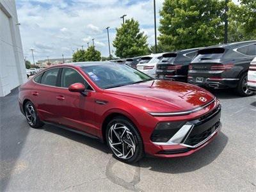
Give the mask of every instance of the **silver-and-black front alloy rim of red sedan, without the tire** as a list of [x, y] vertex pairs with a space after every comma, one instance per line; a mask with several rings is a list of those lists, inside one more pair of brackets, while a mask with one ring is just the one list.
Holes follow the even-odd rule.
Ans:
[[136, 150], [132, 132], [123, 124], [111, 125], [108, 132], [109, 146], [120, 159], [130, 159]]

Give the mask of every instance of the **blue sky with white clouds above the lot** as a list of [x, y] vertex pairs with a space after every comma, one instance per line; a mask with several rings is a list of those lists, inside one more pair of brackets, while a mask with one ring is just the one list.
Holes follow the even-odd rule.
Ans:
[[[156, 0], [157, 26], [159, 10], [164, 0]], [[154, 4], [152, 0], [17, 0], [20, 35], [24, 56], [32, 61], [29, 49], [35, 49], [35, 61], [49, 58], [72, 57], [72, 50], [84, 49], [87, 42], [102, 56], [109, 56], [110, 43], [116, 28], [122, 24], [120, 16], [138, 20], [141, 31], [154, 44]], [[157, 33], [158, 34], [158, 33]], [[111, 52], [114, 50], [111, 45]]]

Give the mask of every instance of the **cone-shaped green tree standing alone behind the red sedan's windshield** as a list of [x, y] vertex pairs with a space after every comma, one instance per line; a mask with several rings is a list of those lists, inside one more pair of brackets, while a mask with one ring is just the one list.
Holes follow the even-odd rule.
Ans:
[[116, 28], [116, 37], [113, 41], [116, 56], [132, 58], [148, 53], [147, 35], [140, 32], [139, 26], [138, 21], [128, 19], [120, 28]]

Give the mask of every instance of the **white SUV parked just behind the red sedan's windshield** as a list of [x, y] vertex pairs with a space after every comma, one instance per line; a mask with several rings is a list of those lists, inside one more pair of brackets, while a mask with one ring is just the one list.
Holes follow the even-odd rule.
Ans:
[[151, 77], [156, 77], [156, 64], [162, 58], [163, 53], [149, 54], [141, 57], [137, 69]]

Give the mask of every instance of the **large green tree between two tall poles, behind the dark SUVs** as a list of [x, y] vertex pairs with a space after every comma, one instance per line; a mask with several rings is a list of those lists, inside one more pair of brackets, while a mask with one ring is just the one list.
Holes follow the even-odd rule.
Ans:
[[223, 42], [223, 0], [165, 0], [158, 37], [164, 51]]

